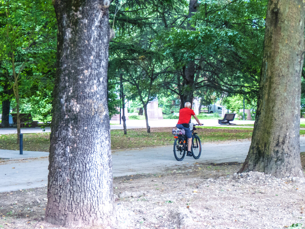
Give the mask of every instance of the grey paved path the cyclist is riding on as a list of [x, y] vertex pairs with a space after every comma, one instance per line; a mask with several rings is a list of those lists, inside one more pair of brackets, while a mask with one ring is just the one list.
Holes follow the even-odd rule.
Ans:
[[[250, 140], [205, 143], [198, 160], [185, 157], [180, 162], [175, 160], [172, 146], [114, 151], [113, 176], [158, 173], [168, 167], [191, 165], [194, 162], [244, 162], [250, 143]], [[305, 136], [300, 136], [300, 147], [301, 152], [305, 151]], [[38, 159], [26, 159], [33, 155]], [[19, 151], [0, 150], [0, 158], [20, 159], [0, 164], [0, 192], [46, 186], [47, 156], [46, 152], [23, 151], [23, 155], [19, 155]]]

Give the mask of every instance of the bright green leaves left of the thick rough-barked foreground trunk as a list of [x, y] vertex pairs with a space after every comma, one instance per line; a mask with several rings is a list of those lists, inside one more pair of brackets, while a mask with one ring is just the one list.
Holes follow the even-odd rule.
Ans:
[[13, 97], [15, 67], [25, 111], [49, 120], [57, 33], [52, 1], [2, 1], [0, 25], [0, 100]]

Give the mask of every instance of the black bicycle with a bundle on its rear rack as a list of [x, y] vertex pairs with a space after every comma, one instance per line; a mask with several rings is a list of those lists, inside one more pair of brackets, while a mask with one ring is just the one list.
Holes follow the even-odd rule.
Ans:
[[[194, 130], [196, 130], [195, 126], [199, 124], [193, 125], [193, 129], [191, 130], [192, 132], [192, 147], [191, 147], [191, 152], [192, 156], [195, 159], [198, 159], [201, 155], [201, 141], [197, 133], [194, 133]], [[176, 134], [174, 134], [174, 156], [177, 161], [182, 161], [184, 156], [185, 156], [185, 151], [188, 150], [188, 139], [184, 134], [181, 134], [182, 132], [180, 129], [177, 129]], [[180, 132], [179, 132], [180, 131]]]

